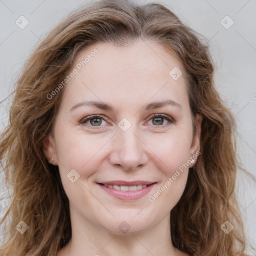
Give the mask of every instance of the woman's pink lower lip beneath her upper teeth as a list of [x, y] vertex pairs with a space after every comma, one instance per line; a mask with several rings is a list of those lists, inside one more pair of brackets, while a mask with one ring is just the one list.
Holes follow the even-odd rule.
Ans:
[[121, 199], [121, 200], [136, 200], [146, 194], [148, 194], [151, 189], [153, 188], [153, 186], [156, 183], [153, 183], [149, 186], [147, 186], [146, 188], [142, 188], [140, 190], [137, 191], [121, 191], [121, 190], [116, 190], [113, 188], [107, 188], [104, 185], [98, 184], [103, 190], [105, 190], [108, 194]]

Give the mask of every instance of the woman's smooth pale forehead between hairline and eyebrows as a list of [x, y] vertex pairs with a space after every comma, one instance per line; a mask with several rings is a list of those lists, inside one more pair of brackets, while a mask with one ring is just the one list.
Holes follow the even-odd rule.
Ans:
[[75, 101], [93, 97], [131, 103], [152, 97], [166, 99], [167, 95], [182, 101], [187, 97], [185, 79], [181, 76], [174, 80], [170, 75], [173, 68], [183, 69], [180, 61], [156, 42], [95, 44], [76, 56], [71, 71], [77, 73], [68, 82], [65, 94]]

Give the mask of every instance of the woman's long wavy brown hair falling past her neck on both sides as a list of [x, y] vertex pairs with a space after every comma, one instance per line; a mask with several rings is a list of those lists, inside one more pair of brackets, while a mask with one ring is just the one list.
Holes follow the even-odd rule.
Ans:
[[[16, 83], [9, 124], [0, 137], [1, 165], [12, 191], [1, 221], [5, 223], [1, 256], [56, 255], [69, 241], [68, 198], [58, 167], [48, 163], [42, 149], [64, 88], [51, 99], [47, 95], [70, 72], [82, 49], [101, 42], [125, 46], [139, 39], [158, 42], [179, 59], [192, 113], [203, 117], [201, 155], [171, 211], [173, 245], [193, 256], [245, 255], [234, 193], [235, 120], [214, 88], [208, 46], [161, 4], [104, 0], [75, 11], [54, 28], [35, 49]], [[29, 226], [23, 235], [15, 229], [20, 220]], [[235, 226], [228, 235], [220, 228], [226, 220]]]

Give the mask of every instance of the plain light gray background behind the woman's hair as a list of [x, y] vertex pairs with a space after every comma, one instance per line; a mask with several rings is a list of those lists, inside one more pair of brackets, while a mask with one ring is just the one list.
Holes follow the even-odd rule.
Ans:
[[[137, 0], [152, 2], [151, 0]], [[35, 45], [70, 10], [86, 0], [0, 0], [0, 101], [11, 92], [15, 78]], [[205, 36], [214, 58], [215, 82], [221, 97], [238, 122], [238, 152], [242, 166], [255, 175], [256, 165], [256, 0], [162, 0], [180, 19]], [[21, 16], [29, 24], [20, 29], [15, 21]], [[225, 29], [220, 21], [226, 16], [234, 24]], [[224, 22], [230, 24], [229, 20]], [[0, 104], [0, 131], [8, 121], [9, 101]], [[213, 156], [214, 157], [214, 156]], [[4, 193], [1, 184], [0, 194]], [[242, 206], [246, 234], [256, 244], [255, 184], [238, 175], [237, 190]], [[7, 202], [0, 201], [0, 215]], [[17, 220], [17, 223], [20, 220]], [[220, 230], [221, 231], [221, 230]], [[250, 255], [256, 255], [251, 247]]]

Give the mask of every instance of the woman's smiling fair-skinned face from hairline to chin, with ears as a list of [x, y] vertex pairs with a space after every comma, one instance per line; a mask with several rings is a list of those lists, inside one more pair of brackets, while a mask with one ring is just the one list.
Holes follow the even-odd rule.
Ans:
[[97, 44], [76, 57], [44, 143], [59, 166], [72, 227], [121, 234], [169, 221], [197, 158], [202, 119], [193, 137], [177, 68], [180, 62], [155, 42]]

